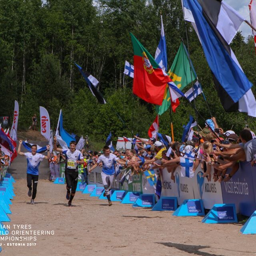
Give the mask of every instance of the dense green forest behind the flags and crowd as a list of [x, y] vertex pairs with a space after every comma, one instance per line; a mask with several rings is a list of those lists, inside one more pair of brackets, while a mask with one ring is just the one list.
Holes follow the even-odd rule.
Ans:
[[[132, 78], [124, 76], [125, 60], [133, 63], [129, 32], [154, 56], [160, 40], [163, 17], [168, 68], [181, 40], [189, 51], [213, 116], [224, 130], [239, 132], [256, 122], [244, 113], [224, 111], [200, 42], [183, 19], [180, 0], [0, 0], [0, 116], [10, 116], [14, 100], [20, 106], [18, 129], [31, 125], [34, 113], [44, 106], [56, 128], [60, 109], [64, 128], [78, 136], [103, 141], [111, 131], [130, 137], [130, 130], [147, 137], [156, 117], [156, 106], [132, 94]], [[231, 45], [249, 80], [256, 84], [256, 55], [252, 37], [238, 32]], [[92, 96], [74, 62], [95, 76], [98, 89], [110, 104], [101, 105]], [[192, 84], [183, 89], [186, 92]], [[252, 87], [255, 94], [255, 86]], [[210, 113], [202, 95], [196, 108], [207, 119]], [[175, 140], [182, 125], [195, 117], [186, 100], [172, 113]], [[160, 116], [160, 132], [170, 135], [170, 112]], [[204, 120], [198, 118], [200, 126]]]

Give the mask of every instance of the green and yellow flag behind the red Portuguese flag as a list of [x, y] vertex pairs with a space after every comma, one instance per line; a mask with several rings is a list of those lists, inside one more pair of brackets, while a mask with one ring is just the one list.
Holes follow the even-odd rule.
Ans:
[[[190, 72], [190, 65], [192, 67], [192, 72]], [[180, 44], [180, 48], [174, 58], [174, 62], [172, 63], [168, 75], [180, 90], [196, 79], [196, 72], [190, 58], [188, 57], [188, 52], [183, 42]], [[162, 115], [166, 110], [168, 110], [168, 108], [170, 108], [170, 105], [170, 91], [168, 85], [166, 85], [162, 105], [156, 106], [156, 112]]]

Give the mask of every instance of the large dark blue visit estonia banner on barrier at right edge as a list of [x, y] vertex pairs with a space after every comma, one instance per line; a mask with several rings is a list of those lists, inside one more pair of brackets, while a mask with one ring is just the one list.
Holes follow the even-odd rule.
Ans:
[[245, 216], [251, 216], [256, 209], [254, 194], [256, 179], [253, 180], [255, 172], [256, 167], [252, 167], [249, 162], [240, 162], [236, 174], [228, 182], [221, 182], [223, 203], [235, 204], [238, 212]]

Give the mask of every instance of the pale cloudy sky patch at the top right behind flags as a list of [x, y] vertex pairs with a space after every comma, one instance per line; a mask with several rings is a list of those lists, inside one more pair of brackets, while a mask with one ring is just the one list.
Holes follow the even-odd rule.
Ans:
[[[232, 6], [236, 11], [238, 11], [246, 20], [250, 22], [250, 13], [248, 4], [250, 0], [225, 0], [227, 4]], [[239, 30], [242, 31], [243, 36], [246, 38], [248, 35], [252, 34], [252, 29], [245, 22], [242, 23]]]

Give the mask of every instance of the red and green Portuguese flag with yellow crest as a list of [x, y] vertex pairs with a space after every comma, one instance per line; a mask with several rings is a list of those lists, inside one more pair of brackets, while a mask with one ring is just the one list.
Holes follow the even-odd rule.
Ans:
[[170, 77], [158, 66], [150, 53], [130, 33], [134, 50], [134, 79], [132, 91], [146, 102], [161, 105]]

